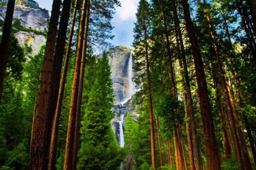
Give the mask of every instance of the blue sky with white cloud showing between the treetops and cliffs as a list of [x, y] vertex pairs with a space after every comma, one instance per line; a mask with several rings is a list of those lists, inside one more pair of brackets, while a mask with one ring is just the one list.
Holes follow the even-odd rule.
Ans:
[[[115, 35], [111, 42], [114, 46], [123, 45], [132, 49], [133, 28], [136, 22], [136, 12], [139, 0], [119, 0], [122, 7], [116, 8], [116, 13], [113, 15], [112, 26], [114, 29], [112, 34]], [[36, 0], [39, 7], [45, 8], [48, 11], [52, 9], [52, 0]]]

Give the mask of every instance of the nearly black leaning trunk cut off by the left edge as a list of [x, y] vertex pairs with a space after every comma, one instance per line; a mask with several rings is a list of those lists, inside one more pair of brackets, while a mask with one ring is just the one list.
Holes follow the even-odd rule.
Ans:
[[3, 83], [5, 70], [7, 66], [8, 48], [11, 35], [11, 24], [14, 15], [15, 0], [8, 0], [7, 10], [5, 14], [5, 23], [2, 31], [2, 40], [0, 44], [0, 105], [3, 92]]

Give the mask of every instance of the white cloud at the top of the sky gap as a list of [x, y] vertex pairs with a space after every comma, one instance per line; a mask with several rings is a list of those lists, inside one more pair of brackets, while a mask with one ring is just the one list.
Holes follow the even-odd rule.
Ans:
[[135, 20], [139, 0], [119, 0], [122, 7], [116, 8], [116, 17], [121, 21]]

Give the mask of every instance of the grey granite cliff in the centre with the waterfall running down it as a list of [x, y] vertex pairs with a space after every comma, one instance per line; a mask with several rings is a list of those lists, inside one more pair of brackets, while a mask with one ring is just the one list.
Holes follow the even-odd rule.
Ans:
[[[124, 128], [123, 122], [127, 113], [131, 113], [134, 120], [138, 115], [134, 112], [135, 106], [131, 104], [132, 97], [139, 91], [140, 87], [136, 86], [132, 79], [136, 76], [132, 66], [134, 61], [132, 59], [131, 49], [124, 46], [117, 46], [107, 53], [109, 57], [109, 64], [111, 66], [111, 78], [113, 80], [113, 90], [115, 95], [115, 102], [113, 112], [115, 118], [111, 120], [112, 129], [115, 132], [116, 139], [120, 144], [120, 128]], [[122, 127], [120, 127], [121, 117]]]

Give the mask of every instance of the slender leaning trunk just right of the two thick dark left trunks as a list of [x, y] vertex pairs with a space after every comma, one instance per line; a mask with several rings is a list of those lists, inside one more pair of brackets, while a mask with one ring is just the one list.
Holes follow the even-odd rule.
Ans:
[[62, 72], [62, 77], [61, 77], [61, 85], [60, 85], [60, 89], [59, 89], [57, 106], [55, 109], [54, 119], [53, 119], [53, 124], [52, 124], [48, 170], [55, 170], [59, 119], [60, 119], [60, 115], [61, 115], [61, 106], [62, 106], [63, 94], [64, 94], [64, 89], [65, 89], [66, 76], [67, 76], [67, 72], [68, 72], [68, 62], [69, 62], [70, 49], [71, 49], [72, 38], [73, 38], [73, 33], [74, 33], [75, 18], [77, 15], [77, 5], [78, 5], [78, 3], [76, 0], [73, 14], [72, 14], [72, 21], [71, 21], [71, 26], [70, 26], [70, 33], [69, 33], [65, 62], [64, 62], [64, 67], [63, 67], [63, 72]]

